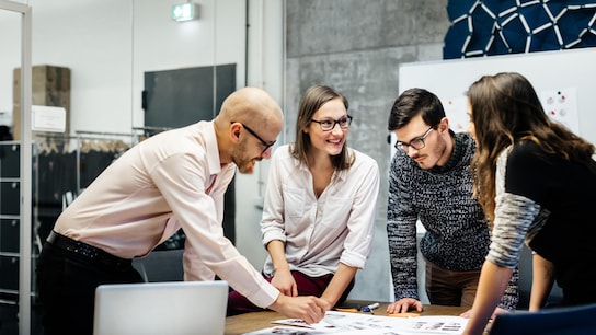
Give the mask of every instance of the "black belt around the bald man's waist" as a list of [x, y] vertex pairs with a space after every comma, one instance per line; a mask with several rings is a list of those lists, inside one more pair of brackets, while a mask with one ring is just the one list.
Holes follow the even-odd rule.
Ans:
[[61, 235], [55, 231], [51, 231], [47, 236], [47, 242], [64, 251], [81, 255], [85, 258], [99, 262], [101, 264], [112, 267], [123, 267], [133, 264], [131, 259], [125, 259], [114, 256], [99, 247], [89, 245], [84, 242], [74, 241], [70, 238]]

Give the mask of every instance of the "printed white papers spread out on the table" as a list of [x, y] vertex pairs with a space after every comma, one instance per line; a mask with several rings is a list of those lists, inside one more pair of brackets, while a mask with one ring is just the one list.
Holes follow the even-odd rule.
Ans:
[[317, 324], [307, 324], [298, 319], [277, 320], [276, 326], [245, 335], [293, 334], [368, 334], [368, 335], [421, 335], [463, 333], [468, 319], [461, 316], [433, 315], [416, 317], [391, 317], [364, 313], [329, 311]]

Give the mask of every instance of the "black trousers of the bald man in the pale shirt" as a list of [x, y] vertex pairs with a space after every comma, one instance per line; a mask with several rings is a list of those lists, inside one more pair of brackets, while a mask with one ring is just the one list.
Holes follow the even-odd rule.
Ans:
[[48, 242], [36, 272], [46, 335], [93, 334], [98, 286], [144, 281], [131, 262], [110, 264]]

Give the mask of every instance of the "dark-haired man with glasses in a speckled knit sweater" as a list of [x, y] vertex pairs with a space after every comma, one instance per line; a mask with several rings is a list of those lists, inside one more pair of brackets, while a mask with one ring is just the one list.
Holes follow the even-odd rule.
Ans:
[[[484, 212], [472, 198], [470, 161], [475, 143], [469, 134], [449, 129], [439, 99], [422, 89], [408, 90], [396, 100], [388, 128], [398, 141], [387, 208], [396, 302], [387, 311], [422, 311], [416, 278], [419, 219], [426, 229], [420, 250], [426, 263], [428, 300], [470, 309], [491, 242]], [[517, 281], [516, 270], [495, 313], [516, 308]]]

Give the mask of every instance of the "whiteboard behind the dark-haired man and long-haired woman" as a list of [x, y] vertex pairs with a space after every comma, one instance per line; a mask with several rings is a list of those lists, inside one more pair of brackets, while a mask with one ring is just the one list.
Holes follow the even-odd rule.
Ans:
[[402, 63], [400, 94], [411, 88], [435, 93], [450, 127], [465, 131], [470, 84], [505, 71], [526, 77], [549, 116], [596, 145], [596, 48]]

